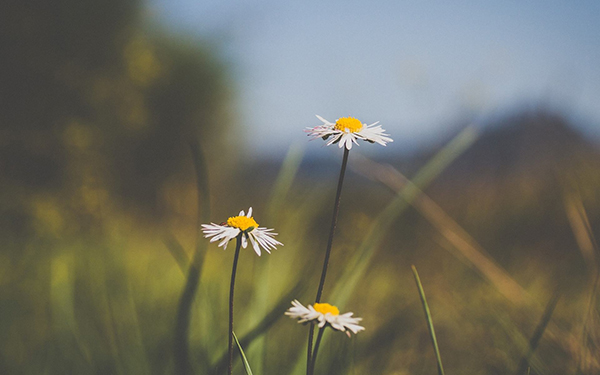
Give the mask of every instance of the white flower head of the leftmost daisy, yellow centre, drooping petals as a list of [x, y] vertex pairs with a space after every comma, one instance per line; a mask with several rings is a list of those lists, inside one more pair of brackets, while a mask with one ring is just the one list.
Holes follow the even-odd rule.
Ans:
[[248, 239], [250, 239], [250, 243], [252, 243], [252, 247], [258, 256], [260, 256], [261, 247], [270, 254], [270, 250], [274, 250], [275, 246], [283, 246], [281, 242], [273, 238], [277, 233], [273, 233], [272, 230], [258, 226], [258, 223], [252, 217], [252, 207], [248, 209], [248, 215], [245, 215], [244, 211], [240, 211], [238, 216], [232, 216], [224, 223], [202, 224], [204, 237], [210, 238], [210, 242], [221, 241], [219, 246], [223, 246], [223, 250], [227, 249], [229, 241], [242, 233], [242, 247], [245, 249], [248, 246]]

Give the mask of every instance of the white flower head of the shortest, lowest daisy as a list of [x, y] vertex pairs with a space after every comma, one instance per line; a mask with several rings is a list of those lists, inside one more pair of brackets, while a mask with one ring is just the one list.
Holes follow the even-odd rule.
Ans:
[[329, 324], [331, 328], [346, 332], [350, 337], [350, 332], [357, 334], [365, 329], [359, 326], [358, 322], [362, 318], [353, 318], [351, 312], [340, 315], [337, 307], [328, 303], [315, 303], [313, 306], [304, 307], [298, 300], [292, 301], [292, 307], [285, 312], [292, 319], [300, 319], [298, 323], [318, 322], [319, 328]]

